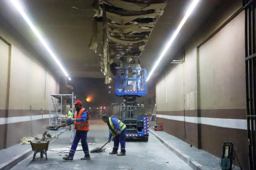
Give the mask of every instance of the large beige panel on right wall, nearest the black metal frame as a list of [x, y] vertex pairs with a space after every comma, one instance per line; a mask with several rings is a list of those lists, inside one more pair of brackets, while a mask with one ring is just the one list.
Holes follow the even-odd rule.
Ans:
[[244, 12], [199, 48], [200, 109], [245, 108]]

